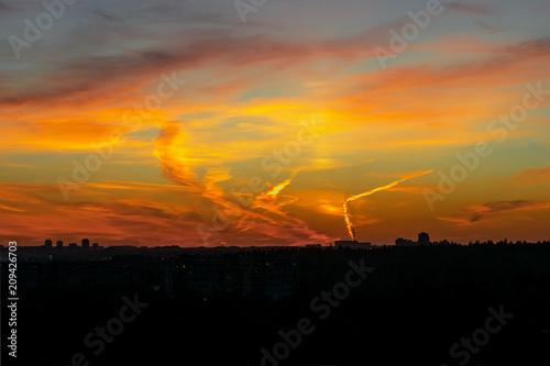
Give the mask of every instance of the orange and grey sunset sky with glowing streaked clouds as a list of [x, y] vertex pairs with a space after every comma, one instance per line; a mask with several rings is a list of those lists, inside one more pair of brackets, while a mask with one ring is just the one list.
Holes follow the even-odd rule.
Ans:
[[0, 239], [550, 239], [550, 1], [0, 1]]

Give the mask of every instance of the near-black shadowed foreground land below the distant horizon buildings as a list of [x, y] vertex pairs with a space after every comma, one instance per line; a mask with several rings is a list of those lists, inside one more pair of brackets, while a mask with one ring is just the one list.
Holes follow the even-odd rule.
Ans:
[[[2, 268], [2, 365], [550, 364], [550, 245], [255, 255], [292, 258], [293, 295], [267, 297], [254, 281], [246, 291], [227, 274], [223, 290], [196, 288], [174, 269], [190, 271], [189, 257], [21, 263], [16, 361], [7, 355]], [[87, 268], [129, 276], [96, 281]]]

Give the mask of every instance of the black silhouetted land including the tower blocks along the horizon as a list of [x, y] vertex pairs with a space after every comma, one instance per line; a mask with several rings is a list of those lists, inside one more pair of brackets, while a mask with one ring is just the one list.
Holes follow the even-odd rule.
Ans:
[[[25, 364], [65, 365], [75, 353], [101, 365], [167, 363], [182, 353], [231, 365], [352, 365], [358, 357], [442, 364], [453, 361], [454, 343], [483, 325], [488, 308], [502, 306], [514, 318], [472, 359], [507, 365], [548, 357], [549, 241], [459, 244], [430, 242], [421, 232], [418, 241], [384, 246], [52, 244], [19, 247], [25, 297], [19, 342], [34, 345], [20, 354]], [[2, 279], [6, 253], [2, 247]], [[359, 267], [372, 269], [340, 295], [338, 284]], [[112, 343], [87, 348], [82, 337], [133, 293], [147, 304], [139, 318]], [[311, 321], [304, 323], [308, 332], [296, 333], [300, 318]], [[465, 359], [457, 350], [455, 359]]]

